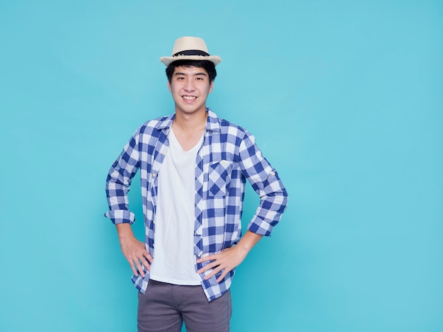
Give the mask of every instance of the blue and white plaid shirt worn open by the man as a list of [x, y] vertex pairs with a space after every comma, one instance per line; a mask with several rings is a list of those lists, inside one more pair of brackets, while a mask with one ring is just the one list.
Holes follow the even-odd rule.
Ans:
[[[254, 137], [243, 128], [217, 118], [207, 108], [207, 125], [202, 147], [195, 161], [195, 227], [194, 253], [197, 258], [219, 253], [241, 238], [241, 214], [246, 179], [260, 196], [260, 205], [248, 224], [248, 230], [269, 236], [287, 205], [287, 191], [272, 166], [255, 145]], [[109, 211], [105, 217], [114, 224], [135, 220], [128, 208], [127, 192], [132, 178], [140, 169], [146, 250], [155, 259], [154, 232], [157, 198], [157, 175], [169, 147], [168, 132], [175, 115], [145, 122], [111, 166], [106, 180]], [[197, 263], [196, 270], [208, 264]], [[221, 272], [205, 280], [202, 287], [208, 301], [222, 296], [231, 286], [234, 270], [222, 282]], [[132, 276], [135, 287], [144, 293], [146, 276]]]

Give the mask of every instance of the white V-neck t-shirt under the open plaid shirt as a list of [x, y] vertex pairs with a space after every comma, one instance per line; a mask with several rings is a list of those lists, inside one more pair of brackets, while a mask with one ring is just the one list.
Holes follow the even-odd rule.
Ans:
[[154, 234], [154, 261], [150, 278], [173, 285], [200, 285], [195, 270], [195, 147], [183, 151], [173, 130], [159, 171]]

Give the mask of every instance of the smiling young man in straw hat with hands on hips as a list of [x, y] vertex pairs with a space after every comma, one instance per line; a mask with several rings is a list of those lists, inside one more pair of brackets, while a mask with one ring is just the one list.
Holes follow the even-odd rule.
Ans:
[[[254, 137], [206, 107], [222, 60], [201, 38], [176, 40], [167, 66], [175, 113], [145, 122], [110, 168], [105, 216], [139, 290], [139, 331], [229, 331], [234, 269], [270, 235], [287, 192]], [[144, 242], [135, 239], [127, 192], [140, 169]], [[246, 179], [260, 205], [241, 236]]]

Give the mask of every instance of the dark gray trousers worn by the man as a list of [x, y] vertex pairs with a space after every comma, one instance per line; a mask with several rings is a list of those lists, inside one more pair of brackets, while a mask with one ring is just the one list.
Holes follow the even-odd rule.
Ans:
[[229, 332], [231, 292], [207, 301], [202, 286], [179, 286], [149, 280], [145, 294], [139, 292], [139, 332]]

